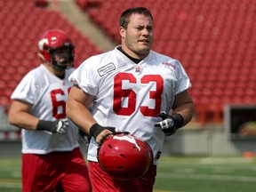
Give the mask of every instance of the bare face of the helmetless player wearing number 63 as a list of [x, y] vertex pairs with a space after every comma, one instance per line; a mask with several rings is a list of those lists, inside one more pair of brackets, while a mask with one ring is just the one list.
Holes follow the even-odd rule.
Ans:
[[133, 58], [147, 57], [153, 44], [153, 21], [143, 14], [132, 14], [127, 29], [121, 27], [122, 48]]

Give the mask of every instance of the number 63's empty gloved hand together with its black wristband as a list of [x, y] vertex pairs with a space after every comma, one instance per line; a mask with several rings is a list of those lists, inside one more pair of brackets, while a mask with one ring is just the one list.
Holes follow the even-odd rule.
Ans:
[[161, 117], [163, 121], [157, 122], [155, 127], [159, 127], [164, 132], [164, 135], [171, 136], [179, 129], [183, 122], [183, 116], [180, 114], [167, 115], [164, 111], [162, 111], [157, 116]]

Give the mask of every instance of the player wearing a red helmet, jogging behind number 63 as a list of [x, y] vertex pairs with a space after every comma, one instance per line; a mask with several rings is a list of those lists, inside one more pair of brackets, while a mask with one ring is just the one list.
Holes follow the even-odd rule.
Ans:
[[66, 116], [74, 71], [74, 44], [60, 29], [38, 42], [43, 64], [23, 77], [12, 93], [11, 124], [22, 133], [22, 188], [31, 191], [92, 191], [78, 128]]

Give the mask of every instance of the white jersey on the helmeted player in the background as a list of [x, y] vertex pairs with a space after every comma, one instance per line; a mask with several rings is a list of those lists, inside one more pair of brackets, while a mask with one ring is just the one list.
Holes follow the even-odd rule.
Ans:
[[[23, 100], [32, 105], [31, 114], [42, 120], [67, 118], [66, 100], [72, 84], [68, 76], [74, 68], [66, 69], [65, 78], [54, 76], [44, 65], [28, 72], [12, 92], [12, 100]], [[78, 128], [69, 121], [65, 134], [21, 130], [22, 153], [48, 154], [52, 151], [70, 151], [78, 147]]]

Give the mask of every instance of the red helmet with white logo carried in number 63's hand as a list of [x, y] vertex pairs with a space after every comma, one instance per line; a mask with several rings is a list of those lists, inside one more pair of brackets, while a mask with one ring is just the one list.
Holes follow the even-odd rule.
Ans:
[[153, 164], [148, 143], [129, 132], [110, 135], [98, 148], [101, 169], [117, 180], [132, 180], [143, 176]]

